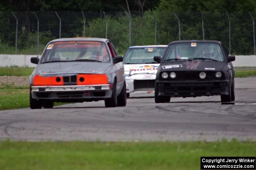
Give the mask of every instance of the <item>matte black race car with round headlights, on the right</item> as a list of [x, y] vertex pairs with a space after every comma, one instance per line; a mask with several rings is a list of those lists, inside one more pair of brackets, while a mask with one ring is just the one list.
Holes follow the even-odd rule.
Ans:
[[182, 40], [171, 42], [155, 81], [155, 102], [170, 102], [171, 96], [197, 97], [220, 95], [221, 102], [235, 100], [233, 65], [220, 41]]

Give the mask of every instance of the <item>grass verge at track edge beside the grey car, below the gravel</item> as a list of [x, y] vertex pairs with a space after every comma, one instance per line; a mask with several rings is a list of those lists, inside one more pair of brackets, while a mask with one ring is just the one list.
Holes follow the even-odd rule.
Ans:
[[[59, 106], [64, 103], [54, 103]], [[29, 106], [29, 87], [1, 87], [0, 110], [20, 109]], [[0, 168], [1, 169], [1, 168]]]

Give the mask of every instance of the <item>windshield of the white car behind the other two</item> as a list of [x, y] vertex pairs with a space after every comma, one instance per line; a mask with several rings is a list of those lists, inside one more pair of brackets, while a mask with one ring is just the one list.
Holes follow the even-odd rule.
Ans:
[[163, 56], [166, 47], [130, 48], [123, 56], [123, 64], [156, 63], [154, 56]]

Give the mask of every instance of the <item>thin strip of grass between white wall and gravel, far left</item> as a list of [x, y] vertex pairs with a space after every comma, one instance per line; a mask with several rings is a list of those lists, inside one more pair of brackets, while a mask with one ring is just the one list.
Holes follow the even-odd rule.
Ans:
[[0, 76], [30, 76], [34, 68], [0, 67]]

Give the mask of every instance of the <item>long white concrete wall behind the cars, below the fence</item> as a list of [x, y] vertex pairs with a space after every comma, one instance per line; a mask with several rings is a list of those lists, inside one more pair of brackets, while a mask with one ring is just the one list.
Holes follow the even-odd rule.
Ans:
[[[0, 67], [36, 67], [36, 64], [30, 62], [31, 57], [37, 56], [0, 54]], [[236, 61], [232, 63], [234, 67], [256, 67], [256, 55], [236, 55]]]

